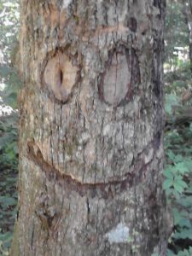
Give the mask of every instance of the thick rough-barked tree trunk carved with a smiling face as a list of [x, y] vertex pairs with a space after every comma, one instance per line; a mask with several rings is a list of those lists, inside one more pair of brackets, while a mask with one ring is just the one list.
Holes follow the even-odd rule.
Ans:
[[20, 2], [12, 255], [166, 255], [164, 0]]

